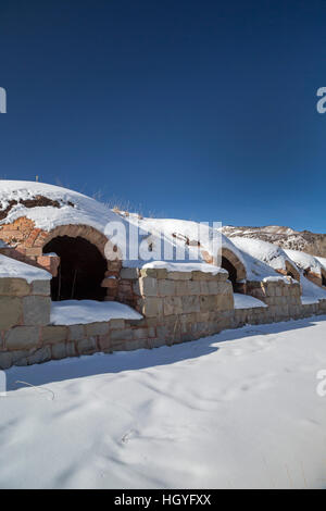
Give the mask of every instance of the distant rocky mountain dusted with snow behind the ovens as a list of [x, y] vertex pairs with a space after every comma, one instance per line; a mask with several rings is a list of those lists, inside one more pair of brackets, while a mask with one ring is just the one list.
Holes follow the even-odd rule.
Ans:
[[326, 258], [326, 234], [316, 234], [310, 230], [300, 232], [279, 225], [266, 225], [265, 227], [233, 227], [226, 225], [222, 228], [222, 232], [229, 238], [241, 236], [262, 239], [281, 248], [301, 250], [312, 256]]

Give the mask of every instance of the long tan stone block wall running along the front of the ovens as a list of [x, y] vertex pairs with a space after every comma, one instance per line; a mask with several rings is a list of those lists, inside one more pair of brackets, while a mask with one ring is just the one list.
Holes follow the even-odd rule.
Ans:
[[170, 346], [244, 324], [326, 314], [326, 300], [301, 304], [297, 283], [251, 283], [251, 294], [267, 307], [234, 309], [225, 273], [123, 269], [121, 275], [117, 296], [143, 319], [72, 326], [50, 325], [49, 281], [28, 284], [0, 278], [0, 369], [98, 351]]

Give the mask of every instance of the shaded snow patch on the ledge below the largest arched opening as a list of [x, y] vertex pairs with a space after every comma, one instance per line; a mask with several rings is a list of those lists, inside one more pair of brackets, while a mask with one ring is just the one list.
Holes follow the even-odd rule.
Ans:
[[110, 320], [141, 320], [142, 315], [117, 301], [64, 300], [52, 301], [53, 325], [75, 325]]

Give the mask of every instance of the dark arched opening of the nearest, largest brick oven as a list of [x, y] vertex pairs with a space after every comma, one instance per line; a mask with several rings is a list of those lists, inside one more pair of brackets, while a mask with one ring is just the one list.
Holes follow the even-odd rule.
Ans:
[[60, 257], [58, 276], [51, 281], [52, 300], [103, 300], [101, 287], [108, 262], [99, 249], [82, 237], [58, 236], [45, 247], [43, 253]]

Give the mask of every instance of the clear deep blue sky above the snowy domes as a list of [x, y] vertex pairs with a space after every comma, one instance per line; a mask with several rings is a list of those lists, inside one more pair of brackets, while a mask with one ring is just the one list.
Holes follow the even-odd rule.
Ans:
[[0, 177], [326, 230], [323, 0], [1, 0]]

